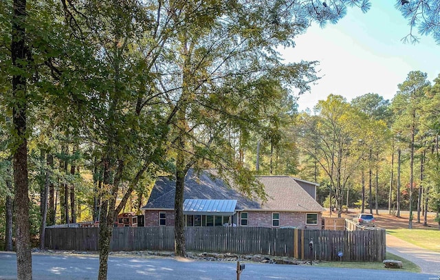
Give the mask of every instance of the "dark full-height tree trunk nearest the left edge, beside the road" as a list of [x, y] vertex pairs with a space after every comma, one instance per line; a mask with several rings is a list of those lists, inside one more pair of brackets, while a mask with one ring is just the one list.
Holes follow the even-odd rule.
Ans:
[[25, 21], [26, 0], [14, 0], [12, 14], [12, 65], [17, 69], [12, 76], [12, 122], [14, 149], [12, 150], [14, 170], [14, 206], [16, 210], [16, 248], [17, 248], [17, 279], [32, 279], [32, 255], [30, 252], [30, 222], [28, 196], [28, 136], [26, 131], [26, 114], [28, 96], [26, 93]]

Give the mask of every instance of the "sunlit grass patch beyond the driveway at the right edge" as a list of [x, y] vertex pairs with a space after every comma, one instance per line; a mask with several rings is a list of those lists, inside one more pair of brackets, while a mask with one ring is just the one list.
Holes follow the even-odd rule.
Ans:
[[421, 248], [440, 252], [440, 230], [438, 229], [408, 229], [400, 228], [386, 230], [386, 233], [399, 239], [405, 240], [410, 244]]

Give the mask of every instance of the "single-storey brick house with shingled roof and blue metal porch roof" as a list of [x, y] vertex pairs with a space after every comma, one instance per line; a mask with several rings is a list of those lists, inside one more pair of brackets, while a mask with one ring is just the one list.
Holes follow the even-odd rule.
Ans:
[[[321, 228], [324, 208], [313, 182], [290, 176], [259, 176], [267, 202], [251, 200], [207, 171], [188, 171], [184, 189], [186, 226]], [[159, 177], [144, 211], [145, 226], [174, 226], [175, 181]]]

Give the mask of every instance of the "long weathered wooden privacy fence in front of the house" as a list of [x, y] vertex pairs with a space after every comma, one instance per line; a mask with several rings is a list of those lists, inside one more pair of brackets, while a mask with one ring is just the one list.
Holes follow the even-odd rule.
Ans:
[[[342, 261], [383, 261], [385, 230], [304, 230], [262, 227], [187, 227], [186, 250]], [[54, 250], [98, 250], [99, 228], [47, 228]], [[313, 239], [314, 248], [309, 242]], [[174, 227], [113, 228], [111, 250], [174, 250]], [[342, 252], [342, 257], [338, 257]]]

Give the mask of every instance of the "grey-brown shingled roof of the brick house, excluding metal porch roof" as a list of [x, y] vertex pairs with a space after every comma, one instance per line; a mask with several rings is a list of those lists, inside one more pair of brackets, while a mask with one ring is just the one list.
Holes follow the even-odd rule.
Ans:
[[[197, 176], [194, 171], [190, 170], [185, 177], [184, 199], [236, 200], [237, 210], [248, 211], [324, 211], [324, 208], [298, 184], [294, 177], [259, 176], [258, 179], [264, 184], [268, 196], [268, 200], [264, 204], [241, 195], [236, 190], [226, 186], [222, 180], [212, 177], [208, 172], [202, 171]], [[169, 177], [159, 177], [151, 191], [147, 204], [142, 208], [173, 209], [174, 199], [175, 180], [170, 180]]]

